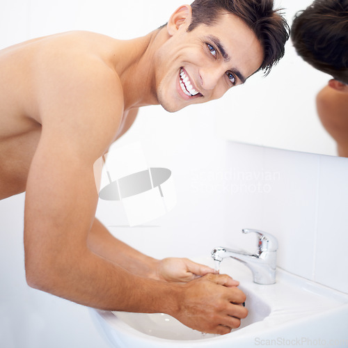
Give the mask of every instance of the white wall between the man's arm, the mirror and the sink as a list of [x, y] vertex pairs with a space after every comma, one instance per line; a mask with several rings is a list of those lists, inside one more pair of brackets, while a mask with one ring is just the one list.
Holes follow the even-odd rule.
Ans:
[[263, 230], [278, 239], [278, 267], [348, 293], [348, 159], [225, 141], [209, 115], [214, 107], [175, 115], [179, 124], [189, 117], [177, 142], [176, 132], [164, 127], [149, 143], [148, 117], [158, 118], [159, 126], [165, 121], [161, 113], [144, 111], [119, 145], [136, 136], [150, 166], [173, 171], [177, 206], [148, 226], [129, 229], [111, 227], [120, 226], [113, 221], [122, 208], [100, 202], [100, 219], [157, 258], [209, 256], [215, 246], [254, 251], [255, 236], [242, 228]]

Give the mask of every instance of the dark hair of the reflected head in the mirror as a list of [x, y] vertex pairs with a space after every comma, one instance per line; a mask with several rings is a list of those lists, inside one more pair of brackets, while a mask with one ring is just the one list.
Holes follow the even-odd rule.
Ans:
[[304, 61], [348, 84], [348, 0], [315, 0], [296, 13], [291, 38]]

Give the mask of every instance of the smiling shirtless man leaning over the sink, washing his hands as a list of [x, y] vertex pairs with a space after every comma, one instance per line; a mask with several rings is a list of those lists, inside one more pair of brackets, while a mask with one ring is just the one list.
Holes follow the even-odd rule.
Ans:
[[[0, 198], [26, 191], [31, 287], [93, 308], [168, 313], [224, 334], [247, 315], [236, 280], [187, 259], [143, 255], [95, 219], [93, 164], [139, 106], [173, 112], [214, 100], [284, 54], [288, 27], [273, 1], [230, 1], [244, 21], [216, 0], [205, 13], [201, 2], [134, 40], [73, 32], [3, 49]], [[252, 31], [254, 16], [264, 18]]]

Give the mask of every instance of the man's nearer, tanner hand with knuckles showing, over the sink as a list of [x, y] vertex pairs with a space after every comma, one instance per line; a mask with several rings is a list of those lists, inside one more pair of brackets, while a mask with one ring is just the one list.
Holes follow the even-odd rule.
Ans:
[[207, 274], [184, 284], [179, 311], [173, 316], [191, 329], [230, 333], [248, 315], [248, 310], [241, 306], [246, 296], [235, 284], [236, 280], [226, 274]]

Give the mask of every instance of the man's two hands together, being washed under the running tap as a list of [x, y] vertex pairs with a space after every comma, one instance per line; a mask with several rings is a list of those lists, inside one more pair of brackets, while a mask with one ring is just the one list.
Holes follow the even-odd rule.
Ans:
[[241, 306], [245, 294], [230, 276], [187, 258], [165, 258], [157, 263], [157, 278], [185, 284], [184, 299], [173, 316], [191, 329], [205, 333], [229, 333], [248, 315]]

